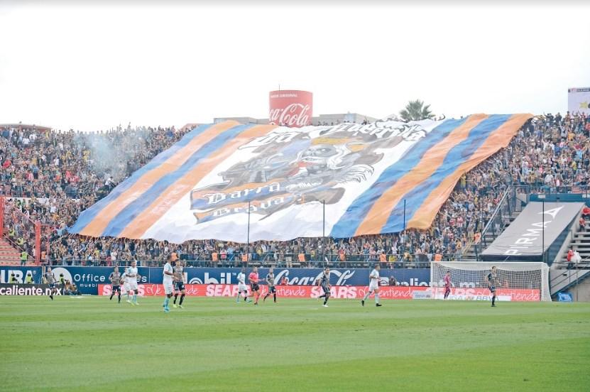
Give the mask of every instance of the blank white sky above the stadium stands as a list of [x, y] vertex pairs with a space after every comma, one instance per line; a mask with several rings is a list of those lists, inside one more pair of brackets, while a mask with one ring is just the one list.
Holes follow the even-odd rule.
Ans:
[[0, 124], [263, 118], [279, 85], [314, 114], [563, 113], [590, 87], [590, 2], [275, 3], [0, 0]]

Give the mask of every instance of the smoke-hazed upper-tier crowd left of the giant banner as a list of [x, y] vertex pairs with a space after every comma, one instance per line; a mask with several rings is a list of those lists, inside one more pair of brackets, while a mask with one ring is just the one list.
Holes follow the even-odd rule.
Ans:
[[64, 200], [100, 198], [172, 146], [182, 131], [121, 126], [106, 132], [0, 129], [0, 194]]

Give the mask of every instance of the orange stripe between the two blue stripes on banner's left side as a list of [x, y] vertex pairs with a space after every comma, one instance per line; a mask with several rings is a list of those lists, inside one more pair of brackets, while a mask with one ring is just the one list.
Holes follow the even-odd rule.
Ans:
[[138, 178], [135, 184], [129, 187], [128, 190], [121, 193], [119, 197], [109, 203], [102, 211], [92, 219], [87, 227], [80, 232], [84, 236], [100, 236], [104, 229], [109, 225], [111, 219], [117, 216], [127, 205], [137, 200], [143, 192], [150, 189], [150, 187], [164, 175], [173, 172], [179, 168], [188, 158], [197, 151], [204, 143], [211, 141], [213, 138], [222, 134], [222, 132], [239, 125], [236, 121], [224, 121], [219, 124], [210, 126], [209, 129], [203, 131], [202, 134], [195, 136], [186, 146], [180, 148], [173, 156], [168, 158], [165, 162], [157, 168], [153, 168], [148, 173]]

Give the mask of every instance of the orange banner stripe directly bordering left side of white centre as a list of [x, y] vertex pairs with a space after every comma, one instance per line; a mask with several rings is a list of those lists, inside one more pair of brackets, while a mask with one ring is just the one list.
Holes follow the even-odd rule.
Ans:
[[184, 177], [180, 178], [168, 189], [162, 192], [156, 200], [146, 209], [141, 212], [127, 227], [121, 232], [119, 236], [126, 238], [141, 238], [155, 222], [163, 216], [170, 207], [175, 205], [178, 200], [187, 195], [197, 183], [199, 183], [205, 175], [209, 174], [219, 163], [229, 158], [239, 146], [243, 146], [251, 138], [257, 138], [268, 134], [268, 132], [275, 129], [275, 125], [257, 125], [242, 132], [231, 140], [219, 151], [212, 153], [207, 160], [198, 165], [194, 170], [191, 170]]

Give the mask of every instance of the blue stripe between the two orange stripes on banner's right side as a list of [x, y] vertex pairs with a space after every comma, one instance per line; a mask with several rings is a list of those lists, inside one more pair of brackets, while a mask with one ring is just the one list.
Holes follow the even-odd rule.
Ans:
[[422, 205], [422, 202], [426, 200], [442, 180], [454, 173], [466, 160], [469, 160], [471, 155], [481, 147], [490, 134], [510, 119], [510, 116], [510, 114], [493, 114], [481, 121], [477, 126], [474, 126], [474, 129], [469, 132], [469, 136], [447, 153], [442, 165], [435, 170], [435, 173], [432, 173], [427, 180], [404, 195], [398, 205], [391, 210], [387, 223], [381, 229], [381, 232], [397, 233], [403, 231], [403, 200], [406, 200], [405, 222], [409, 222]]

